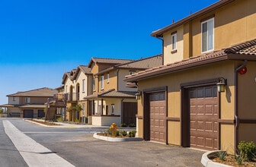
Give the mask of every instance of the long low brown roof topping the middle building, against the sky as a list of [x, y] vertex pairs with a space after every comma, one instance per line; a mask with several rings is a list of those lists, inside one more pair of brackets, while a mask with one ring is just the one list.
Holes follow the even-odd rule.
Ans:
[[113, 64], [113, 65], [120, 65], [123, 63], [127, 63], [133, 60], [130, 59], [117, 59], [117, 58], [91, 58], [91, 61], [88, 64], [88, 68], [91, 68], [93, 63], [104, 63], [104, 64]]

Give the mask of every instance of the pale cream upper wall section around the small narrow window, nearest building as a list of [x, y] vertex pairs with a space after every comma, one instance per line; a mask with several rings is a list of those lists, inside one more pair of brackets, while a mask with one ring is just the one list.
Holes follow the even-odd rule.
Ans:
[[[177, 52], [171, 53], [172, 43], [171, 43], [171, 33], [177, 32]], [[173, 63], [175, 61], [181, 61], [183, 59], [183, 26], [177, 27], [174, 30], [164, 33], [164, 65], [168, 63]]]

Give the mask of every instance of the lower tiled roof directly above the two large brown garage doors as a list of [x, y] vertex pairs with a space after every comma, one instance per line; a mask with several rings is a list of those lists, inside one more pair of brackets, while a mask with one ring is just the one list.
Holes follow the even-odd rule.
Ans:
[[184, 71], [189, 68], [196, 68], [200, 65], [213, 64], [218, 61], [225, 60], [251, 60], [256, 61], [256, 39], [231, 46], [226, 49], [208, 52], [197, 57], [191, 57], [182, 61], [174, 62], [167, 65], [161, 65], [150, 68], [145, 71], [126, 76], [126, 82], [136, 82], [158, 75], [168, 74], [177, 71]]

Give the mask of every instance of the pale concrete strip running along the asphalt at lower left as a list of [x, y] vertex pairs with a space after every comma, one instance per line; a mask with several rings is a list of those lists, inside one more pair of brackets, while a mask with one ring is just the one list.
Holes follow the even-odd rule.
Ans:
[[74, 166], [62, 157], [53, 153], [51, 150], [43, 147], [40, 143], [27, 137], [18, 128], [14, 127], [10, 121], [3, 121], [5, 127], [5, 134], [11, 139], [14, 146], [17, 148], [24, 161], [27, 162], [29, 166]]

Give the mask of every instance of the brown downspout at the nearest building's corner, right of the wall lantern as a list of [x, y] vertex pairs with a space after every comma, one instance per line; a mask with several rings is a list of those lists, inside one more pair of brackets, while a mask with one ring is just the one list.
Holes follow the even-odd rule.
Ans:
[[244, 60], [244, 63], [235, 69], [235, 150], [238, 146], [238, 127], [239, 127], [239, 118], [238, 118], [238, 71], [242, 68], [245, 68], [247, 65], [247, 60]]

